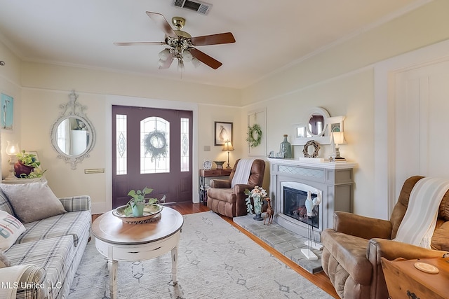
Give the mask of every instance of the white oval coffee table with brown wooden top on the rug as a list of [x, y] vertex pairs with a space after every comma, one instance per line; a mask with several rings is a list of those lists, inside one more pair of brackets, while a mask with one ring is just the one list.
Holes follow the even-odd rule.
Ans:
[[93, 221], [95, 246], [107, 258], [111, 299], [117, 298], [118, 260], [149, 260], [171, 251], [172, 281], [177, 283], [177, 245], [183, 223], [182, 215], [169, 207], [163, 207], [161, 218], [151, 223], [124, 223], [112, 211]]

